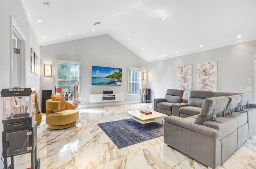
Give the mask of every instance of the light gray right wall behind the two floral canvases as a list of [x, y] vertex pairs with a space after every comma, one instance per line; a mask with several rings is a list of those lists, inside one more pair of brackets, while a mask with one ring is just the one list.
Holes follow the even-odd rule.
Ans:
[[[254, 55], [256, 41], [240, 43], [218, 49], [212, 49], [181, 57], [155, 61], [148, 65], [148, 87], [152, 98], [161, 98], [166, 89], [177, 88], [177, 67], [192, 64], [192, 89], [196, 90], [196, 65], [203, 62], [217, 61], [217, 91], [247, 92], [252, 87], [251, 102], [254, 102]], [[247, 79], [252, 83], [247, 83]]]

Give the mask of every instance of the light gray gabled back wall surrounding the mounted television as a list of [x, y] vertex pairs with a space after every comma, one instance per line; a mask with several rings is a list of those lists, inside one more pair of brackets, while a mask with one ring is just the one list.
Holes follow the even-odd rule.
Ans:
[[[63, 43], [42, 46], [40, 89], [54, 94], [55, 60], [81, 62], [80, 86], [82, 104], [91, 104], [89, 94], [103, 94], [103, 90], [124, 93], [125, 101], [142, 100], [142, 95], [128, 95], [128, 67], [147, 72], [147, 63], [109, 35], [100, 35]], [[114, 64], [113, 64], [114, 62]], [[52, 77], [44, 77], [44, 65], [52, 65]], [[92, 65], [122, 69], [122, 86], [92, 86]], [[146, 81], [142, 88], [146, 88]], [[86, 101], [84, 101], [84, 99]]]

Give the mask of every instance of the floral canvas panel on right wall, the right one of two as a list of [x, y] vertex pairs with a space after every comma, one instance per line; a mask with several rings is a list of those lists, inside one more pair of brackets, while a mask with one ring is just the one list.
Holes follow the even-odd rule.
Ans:
[[217, 91], [217, 62], [200, 63], [196, 66], [196, 89]]

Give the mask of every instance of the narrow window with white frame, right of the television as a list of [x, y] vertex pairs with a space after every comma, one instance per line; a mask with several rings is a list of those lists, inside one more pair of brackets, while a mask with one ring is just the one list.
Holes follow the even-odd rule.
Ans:
[[128, 69], [128, 93], [140, 94], [141, 92], [141, 69]]

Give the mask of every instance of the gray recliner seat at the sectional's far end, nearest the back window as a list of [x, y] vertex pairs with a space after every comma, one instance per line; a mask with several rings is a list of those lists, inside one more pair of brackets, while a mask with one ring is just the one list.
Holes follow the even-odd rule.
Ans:
[[172, 115], [172, 104], [182, 102], [184, 90], [167, 89], [165, 98], [154, 98], [154, 111]]

